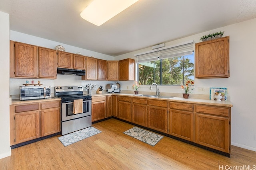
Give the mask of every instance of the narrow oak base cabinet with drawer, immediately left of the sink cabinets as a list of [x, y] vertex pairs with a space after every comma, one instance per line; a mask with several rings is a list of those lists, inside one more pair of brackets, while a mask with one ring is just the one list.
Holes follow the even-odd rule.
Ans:
[[132, 98], [118, 96], [118, 118], [132, 121]]

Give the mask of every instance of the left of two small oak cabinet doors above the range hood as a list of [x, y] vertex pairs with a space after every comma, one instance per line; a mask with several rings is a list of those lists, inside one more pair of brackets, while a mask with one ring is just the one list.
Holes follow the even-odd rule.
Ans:
[[73, 54], [58, 51], [58, 67], [73, 68]]

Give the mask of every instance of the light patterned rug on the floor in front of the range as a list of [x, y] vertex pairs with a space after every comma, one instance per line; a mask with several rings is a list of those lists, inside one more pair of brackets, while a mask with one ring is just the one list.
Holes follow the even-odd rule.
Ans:
[[85, 129], [82, 129], [80, 131], [75, 131], [73, 133], [69, 133], [67, 135], [58, 137], [60, 142], [66, 147], [72, 143], [76, 143], [78, 141], [81, 141], [82, 139], [91, 137], [93, 135], [96, 135], [97, 133], [100, 133], [101, 131], [94, 128], [94, 127], [87, 127]]

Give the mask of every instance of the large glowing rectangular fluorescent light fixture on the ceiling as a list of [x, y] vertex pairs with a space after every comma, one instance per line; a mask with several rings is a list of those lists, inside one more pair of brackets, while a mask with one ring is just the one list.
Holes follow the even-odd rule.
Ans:
[[94, 25], [102, 25], [138, 0], [93, 0], [80, 16]]

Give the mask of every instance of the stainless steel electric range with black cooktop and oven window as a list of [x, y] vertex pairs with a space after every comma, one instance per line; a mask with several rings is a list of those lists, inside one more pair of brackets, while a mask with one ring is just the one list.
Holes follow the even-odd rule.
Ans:
[[[55, 86], [61, 98], [61, 135], [92, 126], [92, 96], [83, 94], [82, 86]], [[74, 100], [82, 99], [83, 113], [73, 113]]]

